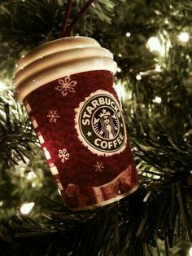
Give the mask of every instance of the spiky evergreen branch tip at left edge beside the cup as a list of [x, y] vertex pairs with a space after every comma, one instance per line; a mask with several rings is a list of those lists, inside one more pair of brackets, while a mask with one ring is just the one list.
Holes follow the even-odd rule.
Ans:
[[14, 111], [8, 104], [4, 106], [5, 116], [0, 117], [0, 165], [11, 168], [17, 161], [25, 162], [25, 157], [30, 157], [33, 152], [31, 144], [37, 139], [28, 118], [20, 115], [19, 105]]

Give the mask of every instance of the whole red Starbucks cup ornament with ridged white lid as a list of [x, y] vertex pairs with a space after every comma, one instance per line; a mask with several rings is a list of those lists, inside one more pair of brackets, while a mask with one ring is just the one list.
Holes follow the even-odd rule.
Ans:
[[17, 65], [15, 97], [72, 210], [107, 205], [138, 187], [115, 73], [111, 52], [85, 37], [47, 42]]

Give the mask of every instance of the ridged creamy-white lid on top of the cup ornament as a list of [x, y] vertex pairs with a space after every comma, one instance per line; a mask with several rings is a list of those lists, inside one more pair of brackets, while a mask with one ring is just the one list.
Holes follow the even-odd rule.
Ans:
[[13, 78], [15, 98], [23, 100], [33, 90], [60, 77], [91, 70], [108, 70], [115, 74], [116, 68], [111, 52], [93, 38], [61, 38], [47, 42], [19, 60]]

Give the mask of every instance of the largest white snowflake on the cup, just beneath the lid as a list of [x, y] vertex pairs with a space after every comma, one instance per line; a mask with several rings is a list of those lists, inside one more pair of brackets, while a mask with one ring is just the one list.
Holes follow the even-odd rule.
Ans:
[[59, 86], [55, 87], [55, 90], [59, 90], [61, 92], [61, 95], [65, 97], [68, 95], [68, 92], [75, 93], [75, 86], [76, 86], [76, 81], [71, 80], [71, 77], [64, 77], [63, 79], [58, 79]]

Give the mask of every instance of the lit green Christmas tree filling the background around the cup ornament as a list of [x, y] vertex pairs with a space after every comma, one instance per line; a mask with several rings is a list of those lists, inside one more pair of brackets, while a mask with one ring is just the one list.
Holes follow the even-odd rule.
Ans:
[[[191, 20], [190, 0], [2, 0], [2, 255], [191, 255]], [[66, 35], [94, 38], [114, 55], [140, 183], [81, 212], [63, 205], [11, 82], [20, 57], [59, 38], [63, 24]]]

